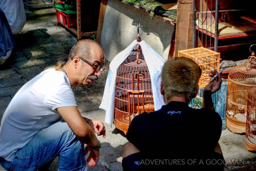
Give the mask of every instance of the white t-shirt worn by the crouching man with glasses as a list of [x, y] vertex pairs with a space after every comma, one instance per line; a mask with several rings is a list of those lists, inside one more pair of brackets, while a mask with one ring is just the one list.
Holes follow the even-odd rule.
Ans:
[[0, 156], [12, 161], [15, 152], [35, 134], [61, 120], [55, 109], [77, 106], [67, 75], [46, 69], [28, 81], [6, 108], [0, 126]]

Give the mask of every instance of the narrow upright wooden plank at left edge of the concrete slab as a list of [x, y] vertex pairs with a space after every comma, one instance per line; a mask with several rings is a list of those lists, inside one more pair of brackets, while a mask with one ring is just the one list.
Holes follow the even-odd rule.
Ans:
[[103, 21], [104, 21], [107, 4], [108, 4], [108, 0], [102, 0], [100, 3], [100, 15], [99, 15], [98, 29], [97, 29], [97, 36], [96, 36], [96, 42], [98, 42], [99, 44], [101, 40], [101, 32], [102, 32]]

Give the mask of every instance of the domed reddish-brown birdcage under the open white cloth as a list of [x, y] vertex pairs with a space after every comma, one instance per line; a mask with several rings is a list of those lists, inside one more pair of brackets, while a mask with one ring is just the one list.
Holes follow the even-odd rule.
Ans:
[[117, 68], [115, 125], [126, 133], [136, 115], [154, 109], [150, 73], [138, 44], [137, 50], [134, 49]]

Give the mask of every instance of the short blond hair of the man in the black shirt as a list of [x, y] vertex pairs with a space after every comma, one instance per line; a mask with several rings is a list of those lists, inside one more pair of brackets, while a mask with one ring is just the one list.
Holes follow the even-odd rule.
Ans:
[[185, 97], [189, 101], [196, 92], [201, 68], [191, 59], [174, 57], [166, 61], [162, 68], [162, 83], [165, 96]]

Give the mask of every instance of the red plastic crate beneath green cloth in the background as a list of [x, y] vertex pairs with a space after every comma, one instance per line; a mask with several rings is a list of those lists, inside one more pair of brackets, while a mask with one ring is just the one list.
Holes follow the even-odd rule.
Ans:
[[67, 28], [76, 28], [76, 15], [67, 15], [56, 10], [57, 20]]

